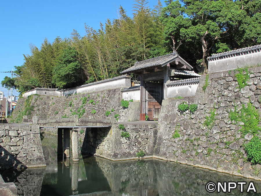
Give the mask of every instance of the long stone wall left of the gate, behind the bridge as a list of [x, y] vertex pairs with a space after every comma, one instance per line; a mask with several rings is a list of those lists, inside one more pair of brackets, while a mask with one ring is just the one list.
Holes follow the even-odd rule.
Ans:
[[[115, 122], [114, 115], [119, 114], [119, 121], [139, 119], [139, 107], [136, 107], [139, 102], [130, 102], [130, 106], [123, 109], [121, 97], [120, 89], [68, 97], [32, 95], [19, 98], [11, 122], [21, 122], [23, 115], [27, 115], [28, 122], [32, 121], [32, 116], [38, 116], [39, 119], [86, 118], [95, 122]], [[111, 114], [106, 116], [106, 111]]]

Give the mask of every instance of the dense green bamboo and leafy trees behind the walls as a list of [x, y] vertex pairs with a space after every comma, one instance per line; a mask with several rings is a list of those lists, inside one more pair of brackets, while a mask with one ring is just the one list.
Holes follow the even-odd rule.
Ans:
[[260, 0], [161, 1], [150, 9], [136, 0], [129, 17], [120, 6], [117, 19], [98, 30], [85, 25], [85, 35], [73, 30], [68, 38], [45, 39], [41, 48], [16, 66], [16, 78], [3, 87], [20, 93], [44, 88], [68, 88], [120, 75], [136, 61], [177, 51], [197, 72], [207, 71], [213, 53], [261, 44]]

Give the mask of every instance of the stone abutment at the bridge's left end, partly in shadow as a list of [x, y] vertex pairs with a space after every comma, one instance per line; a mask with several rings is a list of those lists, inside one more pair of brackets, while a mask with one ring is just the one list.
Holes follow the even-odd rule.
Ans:
[[3, 168], [46, 166], [37, 125], [0, 125], [0, 163]]

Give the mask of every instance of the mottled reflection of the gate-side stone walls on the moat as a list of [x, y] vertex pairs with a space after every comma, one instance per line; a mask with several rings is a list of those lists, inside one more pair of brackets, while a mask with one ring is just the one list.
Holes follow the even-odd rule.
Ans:
[[[96, 161], [111, 186], [112, 195], [143, 195], [145, 192], [147, 195], [209, 195], [205, 190], [208, 181], [250, 181], [169, 161], [113, 162], [101, 158], [96, 158]], [[254, 181], [254, 184], [261, 193], [261, 183]], [[240, 193], [237, 188], [231, 191], [231, 195], [247, 194]]]

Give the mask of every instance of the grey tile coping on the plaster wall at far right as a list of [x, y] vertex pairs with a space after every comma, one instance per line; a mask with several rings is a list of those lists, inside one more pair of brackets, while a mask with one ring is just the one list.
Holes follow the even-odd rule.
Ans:
[[241, 56], [241, 55], [246, 55], [246, 54], [251, 54], [251, 53], [256, 53], [256, 52], [261, 52], [261, 44], [256, 45], [256, 46], [250, 46], [250, 47], [247, 47], [247, 48], [240, 48], [240, 49], [237, 49], [237, 50], [231, 50], [231, 51], [228, 51], [228, 52], [213, 54], [211, 57], [208, 57], [207, 59], [209, 61], [213, 61], [213, 60], [219, 60], [219, 59], [224, 59], [224, 58], [229, 58], [229, 57]]

